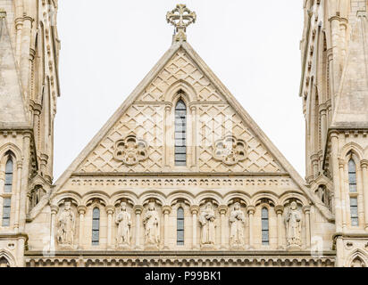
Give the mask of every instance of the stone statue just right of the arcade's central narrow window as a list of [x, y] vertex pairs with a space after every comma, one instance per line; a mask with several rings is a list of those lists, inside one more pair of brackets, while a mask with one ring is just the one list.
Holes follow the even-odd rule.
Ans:
[[205, 209], [199, 216], [199, 223], [202, 227], [201, 231], [201, 244], [202, 245], [214, 245], [215, 242], [215, 227], [214, 224], [216, 217], [214, 216], [213, 205], [208, 202], [205, 205]]

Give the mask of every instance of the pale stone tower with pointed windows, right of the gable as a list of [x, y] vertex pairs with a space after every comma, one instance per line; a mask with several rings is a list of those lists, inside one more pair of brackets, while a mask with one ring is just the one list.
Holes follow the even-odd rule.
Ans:
[[336, 265], [368, 248], [366, 0], [305, 0], [306, 182], [335, 215]]

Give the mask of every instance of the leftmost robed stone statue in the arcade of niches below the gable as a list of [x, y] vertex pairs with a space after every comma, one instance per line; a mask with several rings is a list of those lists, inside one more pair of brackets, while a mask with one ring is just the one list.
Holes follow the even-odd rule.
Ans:
[[74, 229], [75, 215], [71, 210], [71, 201], [65, 201], [63, 212], [57, 220], [57, 243], [60, 246], [72, 247], [74, 242]]

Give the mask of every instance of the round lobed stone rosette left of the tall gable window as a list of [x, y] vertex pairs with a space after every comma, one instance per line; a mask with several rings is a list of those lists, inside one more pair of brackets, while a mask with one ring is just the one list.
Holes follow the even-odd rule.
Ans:
[[113, 157], [128, 166], [135, 166], [148, 157], [147, 144], [135, 135], [128, 135], [115, 143]]

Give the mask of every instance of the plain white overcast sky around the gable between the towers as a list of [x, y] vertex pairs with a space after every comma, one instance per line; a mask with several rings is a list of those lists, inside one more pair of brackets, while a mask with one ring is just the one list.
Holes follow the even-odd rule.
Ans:
[[[305, 123], [298, 97], [301, 0], [187, 0], [194, 47], [300, 175]], [[163, 56], [178, 0], [59, 1], [62, 40], [54, 126], [54, 178]]]

